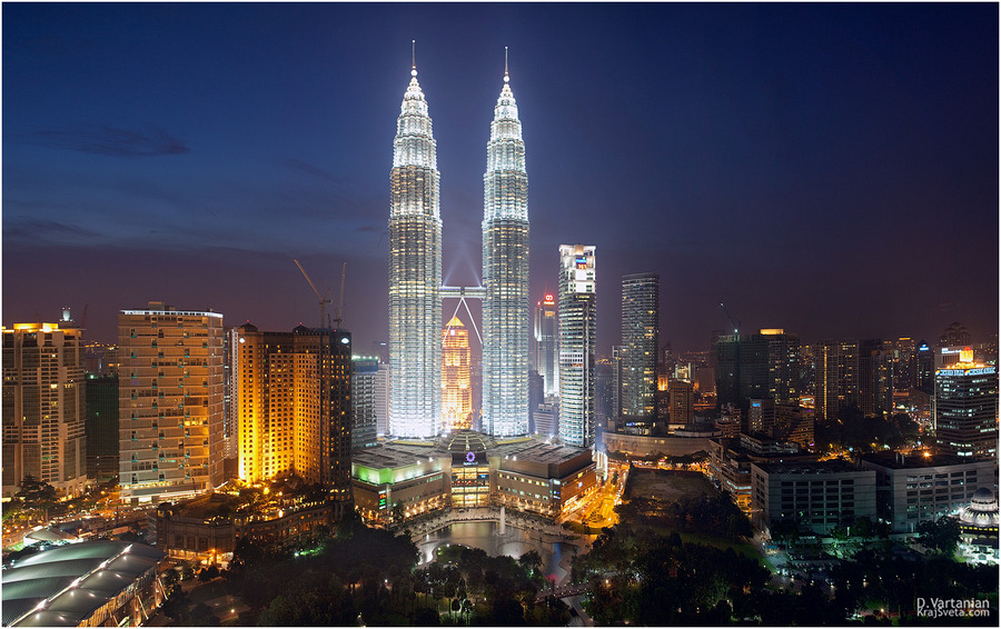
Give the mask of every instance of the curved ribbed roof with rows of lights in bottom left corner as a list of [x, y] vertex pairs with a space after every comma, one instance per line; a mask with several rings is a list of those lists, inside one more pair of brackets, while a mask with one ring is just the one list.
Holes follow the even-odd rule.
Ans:
[[76, 627], [165, 557], [127, 541], [86, 541], [26, 557], [3, 571], [2, 622]]

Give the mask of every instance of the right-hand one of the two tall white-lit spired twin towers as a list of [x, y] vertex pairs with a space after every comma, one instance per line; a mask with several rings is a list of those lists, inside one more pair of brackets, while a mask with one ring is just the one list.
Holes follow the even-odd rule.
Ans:
[[504, 69], [483, 176], [483, 430], [528, 432], [528, 174]]

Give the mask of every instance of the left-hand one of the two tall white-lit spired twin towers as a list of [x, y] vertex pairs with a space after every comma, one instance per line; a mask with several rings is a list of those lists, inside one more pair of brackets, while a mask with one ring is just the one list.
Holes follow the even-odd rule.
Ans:
[[397, 119], [390, 181], [389, 432], [429, 437], [442, 417], [442, 217], [416, 64]]

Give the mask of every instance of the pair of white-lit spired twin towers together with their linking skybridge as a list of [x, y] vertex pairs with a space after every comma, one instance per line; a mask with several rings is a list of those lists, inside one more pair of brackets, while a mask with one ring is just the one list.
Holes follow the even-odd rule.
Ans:
[[[518, 107], [504, 84], [483, 176], [483, 431], [528, 433], [528, 174]], [[389, 433], [442, 432], [442, 217], [437, 153], [414, 56], [393, 141]]]

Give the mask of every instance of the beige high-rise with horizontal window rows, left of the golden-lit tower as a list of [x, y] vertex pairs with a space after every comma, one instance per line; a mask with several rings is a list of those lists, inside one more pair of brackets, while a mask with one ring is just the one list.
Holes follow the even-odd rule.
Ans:
[[222, 482], [222, 314], [150, 301], [118, 313], [121, 499]]

